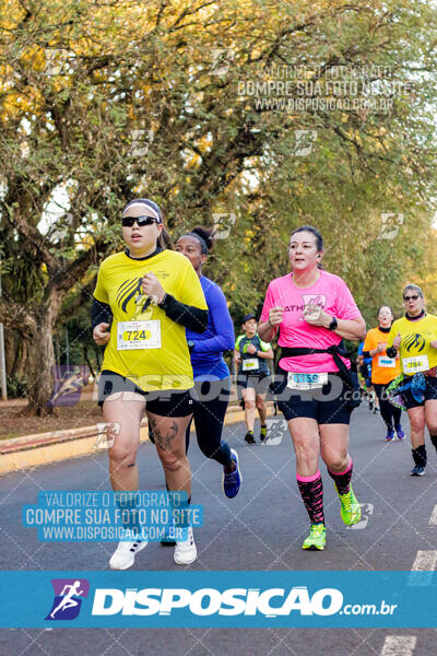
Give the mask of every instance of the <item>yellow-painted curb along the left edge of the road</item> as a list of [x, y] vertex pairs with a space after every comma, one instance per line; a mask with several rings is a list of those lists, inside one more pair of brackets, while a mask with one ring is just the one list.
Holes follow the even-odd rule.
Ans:
[[[273, 403], [268, 401], [268, 415], [272, 414]], [[245, 412], [239, 407], [228, 408], [224, 425], [244, 421]], [[191, 426], [191, 432], [194, 426]], [[50, 465], [70, 458], [99, 455], [106, 448], [96, 448], [98, 435], [96, 424], [67, 431], [38, 433], [12, 437], [0, 442], [0, 476], [29, 467]], [[140, 427], [140, 444], [149, 441], [147, 420], [144, 418]]]

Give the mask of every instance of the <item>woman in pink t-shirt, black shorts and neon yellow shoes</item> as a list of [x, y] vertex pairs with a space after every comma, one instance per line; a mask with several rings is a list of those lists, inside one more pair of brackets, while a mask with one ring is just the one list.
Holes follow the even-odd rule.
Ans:
[[326, 527], [319, 456], [334, 481], [344, 524], [361, 519], [349, 454], [349, 424], [359, 389], [341, 342], [363, 339], [366, 325], [345, 282], [320, 269], [323, 241], [315, 227], [292, 233], [288, 255], [292, 272], [269, 284], [258, 331], [265, 341], [279, 333], [282, 356], [274, 390], [288, 423], [297, 485], [311, 523], [303, 549], [321, 550]]

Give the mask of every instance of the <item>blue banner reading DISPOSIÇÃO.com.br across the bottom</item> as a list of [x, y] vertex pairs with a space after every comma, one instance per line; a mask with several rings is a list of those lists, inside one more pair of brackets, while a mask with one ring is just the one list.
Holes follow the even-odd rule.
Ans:
[[0, 626], [435, 628], [433, 572], [1, 572]]

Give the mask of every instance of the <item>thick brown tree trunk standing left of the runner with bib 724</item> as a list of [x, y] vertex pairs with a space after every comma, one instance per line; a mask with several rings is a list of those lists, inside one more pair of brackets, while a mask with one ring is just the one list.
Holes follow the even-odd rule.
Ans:
[[28, 351], [28, 403], [22, 414], [44, 417], [57, 414], [47, 401], [54, 391], [55, 350], [54, 326], [60, 307], [61, 294], [52, 289], [35, 316], [38, 329], [33, 336]]

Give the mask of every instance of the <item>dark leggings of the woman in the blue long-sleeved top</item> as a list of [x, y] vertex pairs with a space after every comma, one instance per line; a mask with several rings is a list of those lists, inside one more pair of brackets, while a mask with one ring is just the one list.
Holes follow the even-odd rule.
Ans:
[[[187, 426], [185, 436], [186, 450], [188, 453], [190, 427], [192, 420], [194, 420], [196, 435], [202, 454], [223, 466], [231, 465], [229, 445], [222, 440], [223, 423], [229, 402], [231, 378], [196, 380], [194, 393], [192, 395], [196, 398], [192, 419]], [[155, 442], [151, 426], [149, 426], [149, 437], [151, 442]]]

